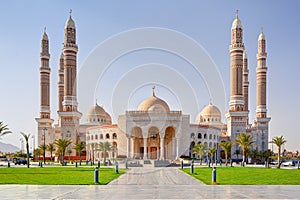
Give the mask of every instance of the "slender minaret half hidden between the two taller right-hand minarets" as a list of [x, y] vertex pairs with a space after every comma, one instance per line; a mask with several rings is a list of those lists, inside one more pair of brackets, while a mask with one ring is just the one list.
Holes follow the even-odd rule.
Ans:
[[[248, 102], [249, 102], [249, 98], [248, 98], [248, 94], [249, 94], [249, 80], [248, 80], [248, 74], [249, 74], [249, 70], [248, 70], [248, 57], [247, 57], [247, 53], [246, 50], [244, 51], [243, 54], [243, 97], [244, 97], [244, 110], [245, 111], [249, 111], [248, 108]], [[248, 119], [247, 119], [247, 124], [249, 123]]]

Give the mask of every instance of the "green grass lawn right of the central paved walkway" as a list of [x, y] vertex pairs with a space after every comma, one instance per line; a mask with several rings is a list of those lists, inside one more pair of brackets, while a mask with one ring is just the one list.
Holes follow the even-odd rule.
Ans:
[[[205, 184], [212, 182], [212, 168], [190, 168], [183, 171]], [[253, 167], [217, 168], [218, 185], [300, 185], [300, 170], [271, 169]]]

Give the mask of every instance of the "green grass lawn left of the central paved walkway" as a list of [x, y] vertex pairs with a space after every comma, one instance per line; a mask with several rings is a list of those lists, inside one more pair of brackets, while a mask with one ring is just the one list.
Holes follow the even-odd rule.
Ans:
[[[125, 172], [125, 169], [119, 169], [119, 174], [116, 174], [114, 168], [100, 168], [99, 184], [106, 185]], [[0, 184], [94, 185], [94, 168], [0, 168]]]

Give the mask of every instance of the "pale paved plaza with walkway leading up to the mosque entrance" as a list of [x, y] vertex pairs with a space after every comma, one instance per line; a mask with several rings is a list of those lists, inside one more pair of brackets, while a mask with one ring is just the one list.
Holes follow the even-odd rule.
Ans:
[[0, 191], [0, 199], [300, 199], [300, 186], [204, 185], [177, 168], [132, 168], [109, 185], [0, 185]]

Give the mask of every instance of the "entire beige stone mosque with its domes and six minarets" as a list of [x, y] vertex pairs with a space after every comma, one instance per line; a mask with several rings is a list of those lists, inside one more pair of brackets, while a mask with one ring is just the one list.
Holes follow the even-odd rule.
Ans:
[[[238, 134], [253, 136], [258, 151], [268, 149], [269, 121], [266, 105], [266, 39], [263, 32], [258, 37], [256, 68], [256, 118], [249, 123], [248, 109], [248, 58], [243, 43], [243, 27], [236, 14], [231, 27], [230, 49], [230, 102], [226, 113], [227, 124], [222, 122], [221, 112], [210, 102], [199, 112], [195, 122], [182, 111], [171, 110], [168, 103], [155, 94], [142, 101], [136, 110], [125, 111], [116, 124], [97, 102], [87, 111], [85, 122], [77, 102], [77, 51], [76, 26], [70, 14], [64, 28], [63, 52], [58, 70], [58, 123], [50, 115], [50, 53], [49, 40], [44, 31], [40, 52], [40, 116], [36, 118], [38, 145], [68, 138], [72, 145], [85, 142], [86, 159], [101, 160], [103, 152], [97, 148], [108, 141], [113, 151], [110, 158], [171, 161], [182, 156], [194, 157], [193, 147], [204, 143], [217, 148], [217, 158], [224, 155], [218, 148], [223, 141], [234, 141]], [[159, 89], [159, 88], [158, 88]], [[149, 94], [151, 92], [149, 91]], [[72, 156], [78, 156], [72, 150]], [[231, 158], [235, 158], [238, 145], [233, 145]]]

